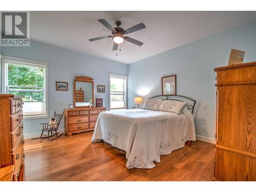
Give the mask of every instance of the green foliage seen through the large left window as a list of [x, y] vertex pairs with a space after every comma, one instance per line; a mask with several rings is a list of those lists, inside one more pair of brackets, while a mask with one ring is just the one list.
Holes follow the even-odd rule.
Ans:
[[[8, 65], [9, 89], [38, 90], [40, 88], [16, 88], [15, 86], [44, 87], [45, 69]], [[24, 101], [43, 101], [43, 92], [9, 91], [10, 94], [24, 97]]]

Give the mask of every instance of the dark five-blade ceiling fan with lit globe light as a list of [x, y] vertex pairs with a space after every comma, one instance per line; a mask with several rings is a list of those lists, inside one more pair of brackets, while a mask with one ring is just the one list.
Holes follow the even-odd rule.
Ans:
[[117, 27], [113, 28], [108, 22], [106, 22], [105, 19], [98, 19], [98, 21], [105, 26], [106, 28], [108, 28], [111, 32], [112, 35], [108, 35], [108, 36], [103, 36], [103, 37], [96, 37], [96, 38], [92, 38], [89, 39], [90, 41], [94, 41], [94, 40], [100, 40], [100, 39], [105, 39], [105, 38], [110, 38], [112, 37], [113, 41], [114, 41], [114, 45], [113, 45], [113, 51], [116, 51], [118, 48], [118, 45], [121, 44], [124, 40], [127, 40], [129, 42], [132, 42], [133, 44], [137, 45], [137, 46], [142, 46], [143, 42], [136, 40], [134, 38], [128, 37], [128, 36], [124, 36], [126, 34], [135, 32], [135, 31], [139, 31], [141, 29], [146, 28], [146, 26], [143, 23], [140, 23], [138, 25], [135, 25], [133, 27], [130, 27], [128, 29], [123, 29], [121, 28], [121, 22], [118, 20], [115, 24]]

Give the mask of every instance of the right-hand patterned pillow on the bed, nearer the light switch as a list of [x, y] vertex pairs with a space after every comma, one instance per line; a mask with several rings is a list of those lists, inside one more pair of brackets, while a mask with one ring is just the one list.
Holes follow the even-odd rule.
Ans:
[[181, 114], [186, 106], [186, 102], [165, 100], [160, 104], [159, 111], [167, 111]]

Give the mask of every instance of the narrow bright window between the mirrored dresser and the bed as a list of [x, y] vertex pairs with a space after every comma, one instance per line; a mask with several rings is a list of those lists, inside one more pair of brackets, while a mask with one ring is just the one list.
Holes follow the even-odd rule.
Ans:
[[126, 109], [127, 76], [110, 74], [110, 109]]

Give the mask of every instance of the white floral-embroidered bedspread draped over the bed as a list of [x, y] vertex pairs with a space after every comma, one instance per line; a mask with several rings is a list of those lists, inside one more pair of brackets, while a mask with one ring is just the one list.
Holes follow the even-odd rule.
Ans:
[[127, 168], [153, 168], [160, 155], [195, 141], [193, 115], [143, 109], [101, 112], [92, 142], [104, 140], [126, 152]]

